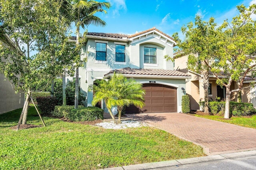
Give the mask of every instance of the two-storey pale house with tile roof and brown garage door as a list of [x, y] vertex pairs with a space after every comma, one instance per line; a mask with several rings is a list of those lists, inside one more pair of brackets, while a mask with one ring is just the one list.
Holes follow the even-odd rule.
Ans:
[[[133, 35], [89, 32], [86, 37], [81, 59], [86, 57], [87, 63], [79, 69], [81, 92], [87, 97], [85, 106], [91, 106], [93, 99], [88, 86], [118, 72], [135, 78], [146, 90], [146, 106], [131, 106], [126, 113], [181, 111], [182, 88], [190, 75], [174, 70], [172, 61], [164, 59], [165, 55], [173, 57], [176, 43], [172, 37], [155, 27]], [[107, 111], [103, 103], [101, 107]]]

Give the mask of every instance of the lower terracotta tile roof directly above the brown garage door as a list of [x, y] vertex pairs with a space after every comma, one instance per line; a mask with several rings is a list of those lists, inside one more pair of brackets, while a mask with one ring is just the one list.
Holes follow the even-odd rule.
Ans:
[[176, 70], [145, 69], [145, 68], [130, 68], [130, 67], [111, 70], [104, 76], [113, 74], [114, 72], [119, 74], [142, 74], [142, 75], [156, 75], [156, 76], [190, 76], [189, 74], [176, 71]]

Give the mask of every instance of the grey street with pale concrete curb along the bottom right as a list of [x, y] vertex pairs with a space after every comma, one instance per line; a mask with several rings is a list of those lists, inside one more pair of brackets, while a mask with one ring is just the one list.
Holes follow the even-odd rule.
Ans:
[[256, 150], [104, 168], [101, 170], [256, 170]]

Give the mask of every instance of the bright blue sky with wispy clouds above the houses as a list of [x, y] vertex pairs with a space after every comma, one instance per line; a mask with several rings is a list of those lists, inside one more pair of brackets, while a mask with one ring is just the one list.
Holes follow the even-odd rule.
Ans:
[[[134, 34], [152, 27], [172, 36], [196, 14], [208, 21], [214, 17], [221, 24], [225, 19], [232, 20], [238, 14], [237, 5], [249, 6], [256, 0], [98, 0], [110, 2], [112, 7], [107, 14], [99, 13], [106, 27], [88, 26], [88, 32]], [[256, 18], [256, 17], [255, 17]], [[73, 29], [74, 30], [74, 29]], [[74, 31], [73, 31], [74, 32]], [[83, 30], [81, 30], [83, 33]]]

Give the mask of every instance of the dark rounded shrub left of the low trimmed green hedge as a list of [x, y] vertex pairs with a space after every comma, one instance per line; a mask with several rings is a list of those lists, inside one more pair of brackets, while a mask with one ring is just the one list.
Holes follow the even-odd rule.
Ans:
[[38, 97], [36, 98], [37, 106], [43, 114], [51, 113], [54, 106], [57, 105], [58, 100], [55, 97]]

